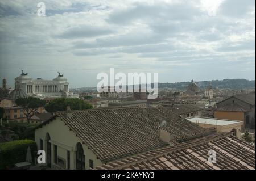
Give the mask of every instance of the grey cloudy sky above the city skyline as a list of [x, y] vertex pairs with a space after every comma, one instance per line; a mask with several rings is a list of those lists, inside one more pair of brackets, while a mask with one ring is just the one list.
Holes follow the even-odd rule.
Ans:
[[[38, 2], [46, 16], [38, 16]], [[100, 72], [159, 82], [255, 79], [255, 0], [0, 1], [0, 78], [96, 86]]]

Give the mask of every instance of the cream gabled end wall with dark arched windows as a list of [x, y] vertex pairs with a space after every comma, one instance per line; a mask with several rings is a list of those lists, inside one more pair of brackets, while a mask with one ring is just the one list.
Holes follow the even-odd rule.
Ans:
[[[66, 168], [67, 168], [67, 150], [70, 151], [70, 169], [76, 169], [76, 144], [82, 141], [79, 137], [75, 135], [72, 131], [69, 130], [68, 126], [64, 124], [63, 121], [60, 120], [59, 117], [56, 120], [51, 121], [49, 124], [44, 125], [42, 128], [38, 128], [35, 130], [35, 141], [38, 145], [38, 149], [40, 149], [40, 139], [43, 140], [43, 150], [46, 151], [46, 133], [49, 133], [51, 137], [52, 144], [52, 168], [60, 169], [58, 165], [56, 165], [54, 161], [54, 151], [53, 145], [57, 145], [57, 155], [63, 159], [65, 159]], [[100, 166], [102, 163], [100, 159], [97, 159], [96, 155], [92, 152], [92, 150], [88, 149], [88, 146], [82, 144], [85, 155], [85, 169], [89, 169], [89, 159], [93, 160], [94, 167]], [[47, 158], [47, 151], [46, 151]]]

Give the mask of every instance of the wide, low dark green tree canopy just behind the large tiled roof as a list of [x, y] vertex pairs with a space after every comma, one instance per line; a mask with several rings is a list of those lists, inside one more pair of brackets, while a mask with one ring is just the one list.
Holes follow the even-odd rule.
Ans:
[[71, 110], [86, 110], [92, 109], [92, 105], [86, 103], [79, 98], [56, 98], [46, 104], [46, 111], [57, 112], [67, 110], [67, 106], [70, 106]]

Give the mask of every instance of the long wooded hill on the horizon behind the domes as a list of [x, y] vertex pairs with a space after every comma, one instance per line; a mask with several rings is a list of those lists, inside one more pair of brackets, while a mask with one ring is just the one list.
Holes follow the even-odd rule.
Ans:
[[[212, 87], [218, 87], [220, 89], [248, 89], [255, 88], [255, 80], [249, 81], [246, 79], [224, 79], [222, 81], [213, 80]], [[179, 90], [184, 90], [189, 85], [190, 82], [176, 82], [176, 83], [159, 83], [159, 88], [175, 88]], [[197, 86], [200, 88], [205, 88], [209, 85], [210, 81], [199, 81], [196, 82]]]

